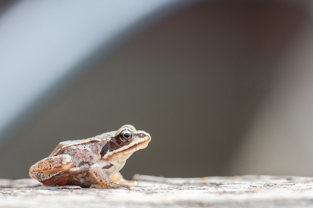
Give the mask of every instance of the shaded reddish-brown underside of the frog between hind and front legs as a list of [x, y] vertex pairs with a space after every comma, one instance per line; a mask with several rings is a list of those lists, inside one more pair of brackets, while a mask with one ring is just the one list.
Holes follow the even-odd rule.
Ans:
[[40, 182], [43, 185], [79, 185], [81, 187], [89, 187], [92, 184], [97, 184], [87, 169], [69, 169]]

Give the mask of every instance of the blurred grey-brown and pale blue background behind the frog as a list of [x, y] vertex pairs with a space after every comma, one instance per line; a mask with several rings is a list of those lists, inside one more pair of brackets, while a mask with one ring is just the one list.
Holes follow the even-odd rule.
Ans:
[[1, 1], [0, 178], [132, 124], [121, 173], [313, 176], [311, 1]]

